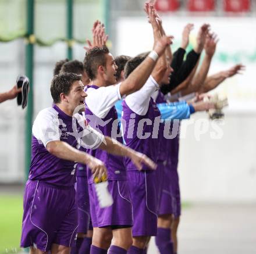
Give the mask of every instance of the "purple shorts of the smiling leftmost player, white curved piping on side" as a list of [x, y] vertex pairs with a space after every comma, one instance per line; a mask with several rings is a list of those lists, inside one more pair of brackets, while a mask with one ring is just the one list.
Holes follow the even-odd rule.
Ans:
[[56, 187], [41, 181], [27, 181], [23, 201], [23, 248], [51, 250], [52, 244], [73, 246], [77, 231], [74, 187]]

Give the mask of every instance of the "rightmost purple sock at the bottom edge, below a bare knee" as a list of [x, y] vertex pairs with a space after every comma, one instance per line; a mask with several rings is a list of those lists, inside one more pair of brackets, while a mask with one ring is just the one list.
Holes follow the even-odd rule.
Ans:
[[161, 254], [173, 254], [173, 242], [170, 239], [169, 228], [157, 228], [155, 244], [158, 246]]

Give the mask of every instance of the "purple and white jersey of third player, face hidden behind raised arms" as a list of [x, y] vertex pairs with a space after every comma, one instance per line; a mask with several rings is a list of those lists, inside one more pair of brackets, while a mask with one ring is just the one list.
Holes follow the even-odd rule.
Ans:
[[[123, 101], [122, 128], [125, 143], [137, 152], [144, 153], [155, 163], [159, 155], [158, 131], [160, 112], [151, 95], [158, 89], [158, 84], [150, 76], [145, 85], [137, 92], [126, 96]], [[156, 133], [154, 133], [156, 132]], [[126, 169], [137, 170], [137, 167], [126, 158]], [[143, 166], [148, 170], [147, 166]]]

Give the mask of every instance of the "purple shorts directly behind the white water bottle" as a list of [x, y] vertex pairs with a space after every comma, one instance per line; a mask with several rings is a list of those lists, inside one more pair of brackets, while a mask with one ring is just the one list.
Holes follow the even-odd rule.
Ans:
[[88, 185], [93, 227], [133, 226], [132, 205], [127, 181], [108, 181], [108, 190], [113, 198], [113, 205], [108, 208], [99, 207], [94, 185]]

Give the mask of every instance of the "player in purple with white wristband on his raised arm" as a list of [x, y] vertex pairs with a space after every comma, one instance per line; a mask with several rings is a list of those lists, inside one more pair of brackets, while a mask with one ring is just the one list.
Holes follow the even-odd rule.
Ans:
[[[116, 84], [117, 66], [108, 48], [96, 46], [88, 50], [84, 66], [86, 66], [91, 84], [87, 87], [86, 117], [91, 126], [99, 128], [104, 135], [115, 135], [115, 138], [122, 142], [115, 103], [123, 96], [140, 90], [150, 76], [156, 58], [165, 52], [166, 46], [170, 43], [170, 37], [163, 37], [156, 41], [151, 56], [146, 58], [127, 80], [117, 85], [113, 85]], [[114, 133], [112, 133], [113, 130]], [[119, 156], [107, 155], [98, 149], [90, 151], [90, 154], [106, 164], [109, 191], [113, 196], [113, 205], [100, 209], [98, 201], [93, 198], [95, 196], [93, 179], [88, 177], [94, 227], [91, 253], [106, 253], [111, 245], [112, 237], [112, 245], [108, 253], [127, 253], [132, 241], [133, 214], [125, 164]], [[151, 169], [148, 164], [145, 165]]]

